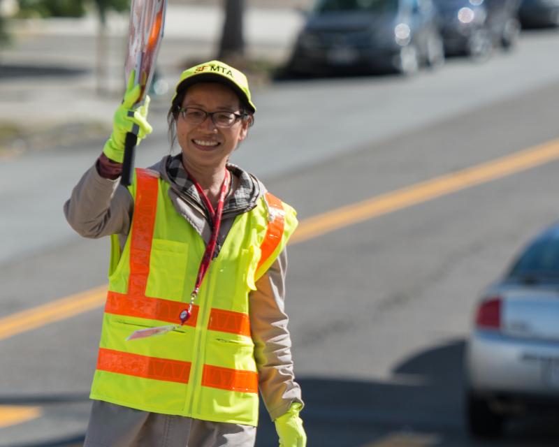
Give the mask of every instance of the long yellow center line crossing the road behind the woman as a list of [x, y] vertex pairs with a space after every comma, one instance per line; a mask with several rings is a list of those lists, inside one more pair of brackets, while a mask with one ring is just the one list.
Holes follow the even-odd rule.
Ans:
[[[556, 159], [559, 159], [559, 140], [311, 217], [301, 222], [289, 242], [297, 244], [310, 240], [345, 226], [491, 182]], [[0, 340], [99, 307], [105, 302], [106, 290], [107, 286], [93, 288], [0, 318]]]

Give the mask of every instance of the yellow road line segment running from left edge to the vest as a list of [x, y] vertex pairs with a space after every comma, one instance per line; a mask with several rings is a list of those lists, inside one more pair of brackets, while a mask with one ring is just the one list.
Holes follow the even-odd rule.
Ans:
[[0, 340], [95, 309], [105, 302], [106, 291], [107, 286], [92, 288], [0, 318]]

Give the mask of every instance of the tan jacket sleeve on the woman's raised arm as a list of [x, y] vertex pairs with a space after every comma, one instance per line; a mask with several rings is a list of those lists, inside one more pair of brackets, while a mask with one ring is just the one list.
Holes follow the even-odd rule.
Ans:
[[64, 203], [66, 220], [83, 237], [127, 235], [132, 211], [128, 189], [119, 179], [101, 177], [96, 166], [86, 171]]

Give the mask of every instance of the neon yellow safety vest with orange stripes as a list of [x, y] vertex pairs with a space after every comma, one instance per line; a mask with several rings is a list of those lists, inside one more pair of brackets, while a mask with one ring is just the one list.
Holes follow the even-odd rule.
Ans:
[[91, 398], [215, 422], [258, 424], [258, 372], [249, 293], [297, 226], [270, 193], [235, 217], [200, 288], [192, 316], [165, 335], [126, 341], [142, 328], [180, 323], [205, 243], [177, 213], [169, 184], [136, 170], [131, 232], [113, 237], [109, 291]]

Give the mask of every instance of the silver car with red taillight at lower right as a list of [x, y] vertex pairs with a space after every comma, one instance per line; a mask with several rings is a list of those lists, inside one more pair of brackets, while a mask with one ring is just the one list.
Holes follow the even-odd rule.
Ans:
[[465, 372], [474, 435], [496, 436], [528, 411], [559, 411], [559, 223], [482, 293]]

